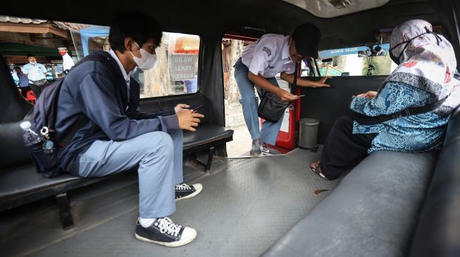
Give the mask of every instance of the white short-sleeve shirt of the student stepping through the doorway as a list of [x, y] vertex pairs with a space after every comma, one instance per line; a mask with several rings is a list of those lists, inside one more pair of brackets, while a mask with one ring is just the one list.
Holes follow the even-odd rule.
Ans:
[[258, 41], [244, 49], [241, 60], [249, 72], [265, 78], [273, 78], [280, 72], [294, 73], [295, 63], [289, 56], [289, 36], [263, 35]]

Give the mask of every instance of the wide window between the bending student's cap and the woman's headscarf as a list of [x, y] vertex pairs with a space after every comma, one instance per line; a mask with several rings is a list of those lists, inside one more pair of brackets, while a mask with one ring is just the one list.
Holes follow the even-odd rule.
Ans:
[[321, 76], [389, 75], [397, 65], [387, 54], [389, 44], [330, 49], [319, 52]]

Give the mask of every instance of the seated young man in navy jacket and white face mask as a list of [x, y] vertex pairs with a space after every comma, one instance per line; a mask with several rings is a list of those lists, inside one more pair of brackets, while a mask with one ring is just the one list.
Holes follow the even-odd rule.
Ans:
[[[173, 110], [139, 110], [139, 83], [132, 70], [150, 70], [157, 61], [162, 30], [151, 16], [120, 13], [108, 40], [111, 51], [98, 51], [111, 66], [87, 60], [63, 79], [58, 98], [56, 140], [80, 126], [58, 153], [61, 168], [80, 177], [101, 177], [137, 169], [139, 218], [135, 237], [164, 246], [182, 246], [197, 236], [193, 228], [168, 216], [175, 201], [194, 197], [201, 184], [187, 185], [182, 175], [182, 129], [195, 131], [202, 114], [188, 105]], [[111, 68], [110, 68], [111, 67]], [[81, 120], [85, 123], [81, 124]]]

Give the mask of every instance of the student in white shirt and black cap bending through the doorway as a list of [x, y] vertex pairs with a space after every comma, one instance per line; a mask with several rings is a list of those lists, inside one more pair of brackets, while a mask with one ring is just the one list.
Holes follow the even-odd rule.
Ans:
[[[259, 130], [257, 108], [259, 98], [254, 93], [254, 87], [262, 95], [263, 91], [270, 91], [289, 102], [299, 99], [299, 96], [283, 90], [278, 85], [275, 75], [281, 73], [281, 79], [293, 83], [295, 63], [304, 58], [318, 58], [318, 43], [321, 39], [319, 29], [311, 24], [299, 25], [291, 36], [280, 34], [266, 34], [251, 44], [242, 53], [242, 57], [235, 63], [235, 79], [240, 89], [240, 103], [243, 108], [244, 121], [251, 134], [251, 156], [259, 156], [262, 152], [280, 154], [271, 149], [275, 145], [278, 132], [282, 124], [282, 117], [276, 123], [263, 121]], [[297, 79], [297, 86], [328, 87], [323, 77], [319, 81]]]

